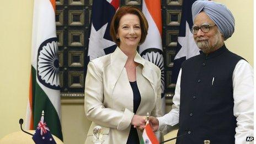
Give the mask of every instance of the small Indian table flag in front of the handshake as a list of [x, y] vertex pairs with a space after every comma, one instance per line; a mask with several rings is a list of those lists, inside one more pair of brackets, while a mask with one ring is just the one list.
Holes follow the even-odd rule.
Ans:
[[145, 144], [158, 144], [158, 140], [156, 135], [154, 135], [153, 130], [151, 129], [150, 123], [147, 122], [145, 129], [142, 134], [142, 139], [140, 143], [145, 143]]

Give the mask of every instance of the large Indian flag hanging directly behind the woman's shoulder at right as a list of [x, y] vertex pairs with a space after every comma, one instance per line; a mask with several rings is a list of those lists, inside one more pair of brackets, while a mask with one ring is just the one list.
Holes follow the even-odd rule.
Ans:
[[161, 89], [162, 89], [162, 104], [159, 106], [158, 116], [165, 113], [165, 98], [164, 98], [164, 61], [162, 47], [162, 15], [160, 0], [143, 0], [142, 13], [145, 15], [148, 22], [148, 34], [145, 42], [140, 45], [139, 53], [146, 60], [157, 65], [161, 70]]

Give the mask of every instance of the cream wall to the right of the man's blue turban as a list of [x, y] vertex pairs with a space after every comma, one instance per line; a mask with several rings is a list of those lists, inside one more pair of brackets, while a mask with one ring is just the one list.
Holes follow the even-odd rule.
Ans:
[[253, 0], [214, 0], [231, 10], [235, 19], [234, 34], [225, 41], [227, 48], [253, 66]]

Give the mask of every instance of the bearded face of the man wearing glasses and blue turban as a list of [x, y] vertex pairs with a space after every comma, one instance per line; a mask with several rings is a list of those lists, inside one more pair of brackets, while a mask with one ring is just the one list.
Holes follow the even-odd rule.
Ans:
[[210, 30], [207, 33], [204, 33], [199, 29], [198, 33], [193, 35], [194, 40], [200, 50], [205, 54], [209, 54], [223, 45], [223, 38], [215, 23], [205, 12], [200, 12], [194, 20], [193, 26], [200, 27], [201, 25], [210, 25]]

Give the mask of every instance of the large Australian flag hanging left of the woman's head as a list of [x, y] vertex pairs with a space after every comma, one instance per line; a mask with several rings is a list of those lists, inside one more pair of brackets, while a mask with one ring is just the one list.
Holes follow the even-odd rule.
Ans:
[[116, 44], [111, 39], [109, 29], [118, 8], [119, 0], [93, 1], [87, 63], [115, 51]]

